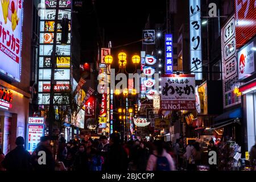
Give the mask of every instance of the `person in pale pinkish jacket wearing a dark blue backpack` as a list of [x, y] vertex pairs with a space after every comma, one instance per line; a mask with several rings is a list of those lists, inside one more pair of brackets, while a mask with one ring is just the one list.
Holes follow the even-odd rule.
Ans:
[[148, 159], [146, 171], [175, 171], [174, 160], [164, 149], [162, 140], [154, 141], [154, 151]]

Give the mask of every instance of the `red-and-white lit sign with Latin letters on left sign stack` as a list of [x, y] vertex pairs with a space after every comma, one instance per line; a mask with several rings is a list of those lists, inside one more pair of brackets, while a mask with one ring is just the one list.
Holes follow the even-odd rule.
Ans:
[[[56, 81], [54, 86], [55, 92], [67, 91], [70, 89], [69, 81]], [[38, 92], [50, 92], [51, 82], [50, 81], [39, 81], [38, 82]]]

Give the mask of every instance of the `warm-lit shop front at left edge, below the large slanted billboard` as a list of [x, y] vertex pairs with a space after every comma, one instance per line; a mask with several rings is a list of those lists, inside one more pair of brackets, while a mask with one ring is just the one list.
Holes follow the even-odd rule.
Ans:
[[30, 94], [0, 80], [0, 149], [13, 150], [16, 137], [26, 141]]

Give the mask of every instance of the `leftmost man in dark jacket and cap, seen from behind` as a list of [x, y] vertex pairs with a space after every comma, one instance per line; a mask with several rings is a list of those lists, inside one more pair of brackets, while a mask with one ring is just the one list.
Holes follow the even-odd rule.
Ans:
[[7, 171], [31, 171], [31, 155], [23, 147], [24, 138], [16, 138], [16, 148], [10, 151], [2, 162]]

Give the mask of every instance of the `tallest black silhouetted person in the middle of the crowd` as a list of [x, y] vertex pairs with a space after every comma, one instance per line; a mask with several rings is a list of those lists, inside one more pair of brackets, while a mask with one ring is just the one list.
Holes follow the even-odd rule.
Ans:
[[110, 135], [109, 152], [105, 161], [106, 171], [127, 171], [127, 154], [120, 142], [120, 135], [118, 133]]

